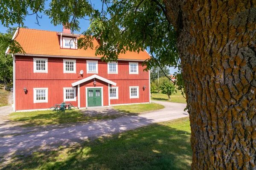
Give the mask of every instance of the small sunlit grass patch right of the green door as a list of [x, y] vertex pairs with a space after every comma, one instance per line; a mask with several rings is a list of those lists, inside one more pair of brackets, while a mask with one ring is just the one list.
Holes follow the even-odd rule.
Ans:
[[113, 106], [113, 108], [124, 113], [141, 113], [145, 111], [155, 111], [155, 110], [163, 109], [164, 106], [156, 103], [150, 103], [150, 104], [136, 104], [136, 105], [120, 105], [120, 106]]

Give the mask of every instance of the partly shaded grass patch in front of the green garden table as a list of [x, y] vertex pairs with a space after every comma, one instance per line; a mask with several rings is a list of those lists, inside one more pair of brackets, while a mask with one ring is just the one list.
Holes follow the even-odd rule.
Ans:
[[13, 122], [24, 123], [23, 126], [54, 125], [61, 123], [88, 122], [93, 120], [114, 119], [115, 115], [94, 115], [87, 116], [81, 111], [32, 111], [32, 112], [14, 112], [9, 115]]

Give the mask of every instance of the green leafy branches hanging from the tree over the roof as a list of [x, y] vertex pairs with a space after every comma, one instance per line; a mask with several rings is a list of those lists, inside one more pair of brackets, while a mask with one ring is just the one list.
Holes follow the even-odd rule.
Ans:
[[[84, 30], [84, 38], [78, 40], [79, 48], [95, 48], [96, 55], [103, 55], [105, 61], [117, 60], [119, 54], [127, 51], [139, 53], [149, 49], [151, 58], [143, 63], [147, 65], [146, 70], [158, 65], [161, 69], [175, 66], [181, 71], [176, 31], [167, 20], [162, 0], [102, 0], [101, 10], [94, 9], [90, 0], [51, 0], [48, 9], [44, 7], [45, 2], [2, 0], [0, 21], [6, 28], [14, 24], [24, 26], [26, 16], [34, 14], [39, 24], [38, 14], [44, 12], [52, 24], [64, 23], [73, 32], [81, 29], [79, 20], [89, 20], [90, 27]], [[93, 38], [100, 38], [101, 45], [94, 47]], [[0, 44], [3, 41], [0, 38]], [[26, 52], [15, 40], [8, 41], [11, 53]]]

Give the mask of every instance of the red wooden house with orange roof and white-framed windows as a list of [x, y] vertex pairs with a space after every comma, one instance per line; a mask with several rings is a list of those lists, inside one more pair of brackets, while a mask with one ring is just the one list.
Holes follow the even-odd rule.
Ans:
[[[14, 37], [26, 52], [13, 54], [14, 111], [49, 109], [61, 102], [78, 108], [150, 102], [150, 73], [142, 66], [150, 57], [146, 51], [120, 54], [117, 62], [106, 63], [95, 50], [78, 49], [82, 35], [65, 28], [20, 28]], [[99, 45], [97, 40], [93, 44]]]

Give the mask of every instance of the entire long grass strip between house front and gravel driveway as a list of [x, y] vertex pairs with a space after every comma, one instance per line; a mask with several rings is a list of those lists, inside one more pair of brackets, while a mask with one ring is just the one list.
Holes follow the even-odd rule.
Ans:
[[[140, 105], [125, 105], [115, 106], [117, 111], [113, 109], [109, 113], [94, 113], [90, 115], [88, 110], [86, 113], [82, 111], [32, 111], [32, 112], [15, 112], [9, 115], [9, 119], [13, 122], [21, 122], [23, 126], [38, 126], [38, 125], [53, 125], [61, 123], [88, 122], [102, 119], [115, 119], [118, 116], [139, 113], [143, 111], [153, 111], [164, 108], [158, 104], [140, 104]], [[119, 111], [119, 112], [118, 112]]]

